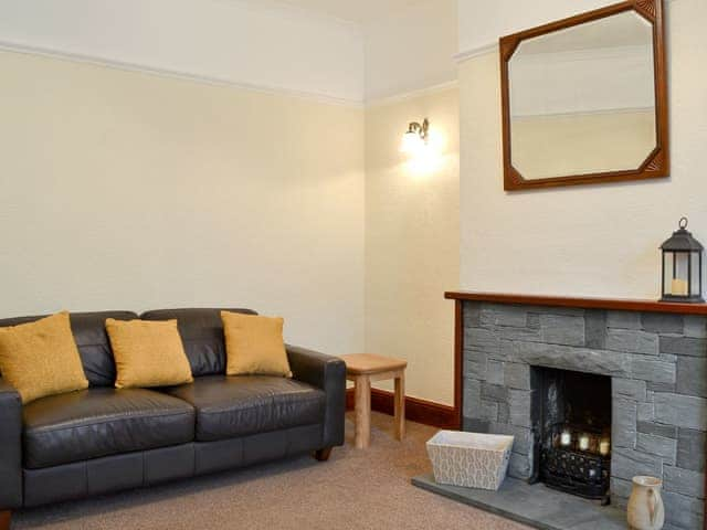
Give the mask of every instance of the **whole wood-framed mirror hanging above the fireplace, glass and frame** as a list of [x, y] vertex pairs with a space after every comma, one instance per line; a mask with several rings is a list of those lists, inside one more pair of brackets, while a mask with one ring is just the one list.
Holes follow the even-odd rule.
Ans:
[[505, 189], [667, 176], [661, 3], [503, 38]]

